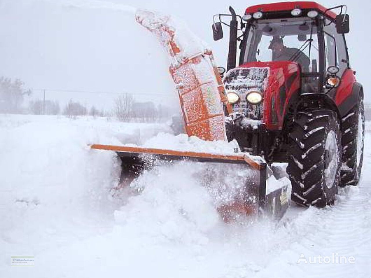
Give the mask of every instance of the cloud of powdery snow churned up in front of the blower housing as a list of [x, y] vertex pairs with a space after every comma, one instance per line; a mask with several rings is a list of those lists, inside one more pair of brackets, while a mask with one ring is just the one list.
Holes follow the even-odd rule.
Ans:
[[[162, 162], [130, 184], [131, 194], [115, 212], [115, 219], [130, 233], [203, 244], [214, 229], [224, 225], [219, 208], [241, 201], [244, 185], [256, 178], [245, 165]], [[237, 213], [233, 216], [236, 224], [253, 220]]]

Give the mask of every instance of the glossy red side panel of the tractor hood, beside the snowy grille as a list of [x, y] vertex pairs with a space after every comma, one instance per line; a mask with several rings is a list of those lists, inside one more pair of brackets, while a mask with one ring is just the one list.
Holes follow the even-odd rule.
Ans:
[[[251, 62], [240, 67], [269, 67], [269, 76], [263, 96], [263, 123], [268, 130], [282, 129], [289, 100], [300, 89], [299, 65], [289, 61], [277, 61]], [[282, 86], [285, 89], [284, 97], [280, 96]]]

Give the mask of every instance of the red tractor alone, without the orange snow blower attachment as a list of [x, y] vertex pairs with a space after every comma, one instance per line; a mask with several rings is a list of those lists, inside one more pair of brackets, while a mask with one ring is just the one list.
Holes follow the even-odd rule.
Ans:
[[346, 6], [261, 4], [243, 16], [229, 10], [213, 24], [214, 40], [223, 37], [222, 24], [230, 28], [228, 140], [268, 164], [287, 162], [296, 203], [334, 203], [338, 186], [358, 184], [364, 148], [364, 93], [350, 66]]

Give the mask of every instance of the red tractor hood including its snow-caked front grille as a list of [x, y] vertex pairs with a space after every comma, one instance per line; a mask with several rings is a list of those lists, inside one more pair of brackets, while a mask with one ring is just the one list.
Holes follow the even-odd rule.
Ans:
[[[260, 120], [267, 129], [280, 129], [289, 100], [300, 89], [300, 67], [289, 61], [250, 62], [227, 72], [223, 79], [226, 91], [239, 95], [233, 112]], [[250, 92], [260, 92], [262, 102], [247, 101]]]

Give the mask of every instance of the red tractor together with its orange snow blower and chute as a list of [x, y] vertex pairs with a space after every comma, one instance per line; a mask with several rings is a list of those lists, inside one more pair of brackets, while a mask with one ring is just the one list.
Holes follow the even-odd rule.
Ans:
[[[157, 37], [170, 58], [187, 135], [236, 140], [238, 148], [233, 153], [227, 148], [217, 153], [91, 148], [115, 151], [121, 158], [118, 188], [159, 160], [197, 162], [195, 168], [203, 172], [200, 184], [207, 188], [215, 183], [217, 191], [233, 188], [231, 198], [217, 203], [227, 222], [239, 215], [282, 217], [289, 206], [289, 184], [281, 183], [283, 173], [273, 162], [288, 163], [293, 201], [331, 205], [338, 186], [358, 184], [364, 146], [364, 95], [349, 63], [346, 6], [262, 4], [247, 8], [243, 16], [229, 10], [216, 14], [219, 21], [213, 24], [215, 40], [223, 37], [222, 24], [230, 28], [226, 73], [216, 67], [212, 51], [171, 16], [137, 10], [135, 19]], [[280, 181], [272, 182], [272, 175]]]

